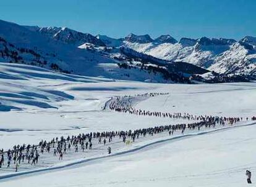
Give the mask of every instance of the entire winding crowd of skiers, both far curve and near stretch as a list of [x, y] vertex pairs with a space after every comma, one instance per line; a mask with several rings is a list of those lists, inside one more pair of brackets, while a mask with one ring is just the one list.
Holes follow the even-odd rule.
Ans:
[[[149, 93], [134, 96], [117, 97], [113, 101], [109, 101], [109, 109], [114, 111], [121, 111], [124, 113], [132, 113], [143, 116], [159, 116], [159, 117], [171, 117], [181, 119], [193, 119], [195, 122], [190, 124], [175, 124], [175, 125], [156, 125], [155, 127], [149, 127], [137, 130], [119, 130], [119, 131], [105, 131], [105, 132], [90, 132], [90, 133], [79, 133], [79, 135], [72, 135], [67, 137], [56, 137], [50, 141], [41, 140], [38, 145], [15, 145], [12, 149], [4, 151], [0, 150], [0, 168], [6, 164], [6, 167], [14, 167], [17, 172], [19, 165], [26, 163], [30, 165], [36, 165], [40, 154], [50, 154], [56, 157], [56, 160], [62, 160], [65, 154], [72, 153], [83, 153], [93, 149], [93, 143], [98, 142], [106, 146], [106, 151], [111, 154], [111, 147], [109, 143], [113, 141], [113, 138], [119, 138], [124, 143], [136, 141], [140, 137], [153, 136], [157, 133], [166, 132], [170, 136], [174, 132], [184, 133], [188, 130], [201, 130], [205, 128], [215, 127], [215, 125], [233, 125], [236, 122], [242, 120], [242, 117], [219, 117], [219, 116], [197, 116], [192, 114], [181, 114], [181, 113], [161, 113], [161, 112], [150, 112], [142, 109], [132, 108], [132, 100], [138, 97], [155, 97], [156, 95], [168, 95], [169, 93]], [[248, 120], [248, 118], [246, 119]], [[256, 117], [252, 117], [252, 120], [256, 120]], [[93, 141], [92, 141], [93, 140]], [[108, 146], [108, 148], [107, 148]]]

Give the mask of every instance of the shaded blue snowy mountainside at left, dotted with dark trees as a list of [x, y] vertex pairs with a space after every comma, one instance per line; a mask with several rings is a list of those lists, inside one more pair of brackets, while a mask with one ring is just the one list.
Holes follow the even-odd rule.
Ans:
[[[45, 30], [46, 32], [42, 34]], [[147, 70], [140, 70], [140, 68], [124, 69], [118, 65], [119, 60], [113, 59], [109, 55], [103, 55], [102, 52], [94, 49], [80, 49], [73, 43], [69, 44], [67, 41], [76, 42], [70, 37], [66, 38], [66, 36], [70, 36], [69, 31], [67, 28], [41, 28], [38, 30], [36, 26], [20, 26], [0, 20], [0, 62], [24, 63], [86, 76], [172, 82], [164, 79], [161, 73], [150, 73]], [[76, 31], [70, 32], [76, 33], [71, 34], [75, 38], [84, 39], [83, 37], [88, 36]], [[52, 34], [59, 39], [54, 39]], [[93, 38], [100, 41], [94, 36]]]

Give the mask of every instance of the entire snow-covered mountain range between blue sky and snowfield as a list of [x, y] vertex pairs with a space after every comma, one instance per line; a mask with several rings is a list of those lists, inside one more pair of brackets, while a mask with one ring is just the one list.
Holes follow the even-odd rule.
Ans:
[[152, 39], [131, 33], [114, 39], [0, 20], [0, 62], [134, 81], [190, 82], [195, 76], [209, 79], [216, 74], [251, 78], [256, 76], [256, 38], [181, 38], [178, 42], [170, 35]]

